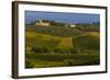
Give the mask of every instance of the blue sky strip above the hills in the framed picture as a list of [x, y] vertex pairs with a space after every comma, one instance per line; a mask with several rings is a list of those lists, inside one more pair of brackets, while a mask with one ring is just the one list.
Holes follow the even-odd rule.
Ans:
[[94, 23], [100, 21], [99, 14], [25, 11], [25, 22], [29, 24], [37, 20], [50, 20], [65, 23]]

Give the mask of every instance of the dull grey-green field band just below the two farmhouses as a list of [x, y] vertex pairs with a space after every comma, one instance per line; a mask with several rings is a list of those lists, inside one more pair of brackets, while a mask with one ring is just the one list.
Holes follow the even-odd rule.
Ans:
[[76, 36], [80, 35], [79, 30], [66, 27], [66, 26], [26, 26], [26, 31], [36, 32], [41, 34], [54, 35], [54, 36]]

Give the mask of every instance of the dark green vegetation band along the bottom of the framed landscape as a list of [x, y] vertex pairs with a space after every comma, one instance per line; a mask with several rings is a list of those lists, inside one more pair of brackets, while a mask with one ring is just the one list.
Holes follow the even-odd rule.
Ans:
[[[65, 67], [99, 65], [99, 54], [50, 54], [50, 53], [26, 53], [26, 68]], [[29, 65], [28, 65], [29, 62]], [[32, 64], [31, 64], [32, 62]]]

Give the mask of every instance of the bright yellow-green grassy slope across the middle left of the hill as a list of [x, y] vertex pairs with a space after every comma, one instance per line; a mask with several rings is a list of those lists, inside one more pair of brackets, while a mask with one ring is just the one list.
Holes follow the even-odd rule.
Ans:
[[35, 32], [26, 32], [25, 35], [26, 35], [25, 36], [26, 44], [29, 44], [31, 46], [34, 44], [42, 45], [43, 42], [51, 39], [51, 38], [59, 39], [61, 41], [61, 43], [58, 44], [59, 46], [64, 46], [64, 47], [73, 46], [72, 37], [52, 36], [52, 35], [46, 35], [46, 34], [41, 34], [41, 33], [35, 33]]

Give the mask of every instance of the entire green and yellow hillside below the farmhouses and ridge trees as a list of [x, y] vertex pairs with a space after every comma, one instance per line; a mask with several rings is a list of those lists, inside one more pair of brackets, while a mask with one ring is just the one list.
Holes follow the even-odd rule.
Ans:
[[99, 65], [99, 31], [84, 30], [26, 25], [25, 68]]

